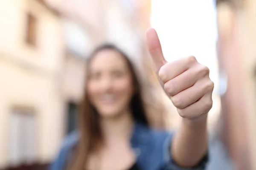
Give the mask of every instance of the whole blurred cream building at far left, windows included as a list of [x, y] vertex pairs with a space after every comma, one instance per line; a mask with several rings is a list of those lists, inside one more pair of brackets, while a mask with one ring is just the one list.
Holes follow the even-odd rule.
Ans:
[[0, 11], [0, 169], [44, 164], [62, 137], [60, 15], [43, 0], [0, 1]]

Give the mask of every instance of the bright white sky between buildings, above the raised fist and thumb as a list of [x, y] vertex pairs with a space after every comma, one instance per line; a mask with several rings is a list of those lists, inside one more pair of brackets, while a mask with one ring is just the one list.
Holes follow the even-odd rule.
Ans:
[[195, 56], [218, 79], [214, 0], [151, 0], [151, 26], [156, 29], [167, 61]]

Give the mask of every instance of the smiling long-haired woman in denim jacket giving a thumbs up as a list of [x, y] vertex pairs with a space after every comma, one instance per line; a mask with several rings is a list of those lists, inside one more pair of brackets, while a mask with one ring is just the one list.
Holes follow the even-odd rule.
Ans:
[[167, 63], [154, 29], [147, 38], [160, 82], [183, 117], [180, 128], [174, 134], [149, 127], [133, 65], [118, 48], [103, 45], [88, 61], [79, 133], [67, 137], [52, 170], [204, 169], [209, 70], [195, 57]]

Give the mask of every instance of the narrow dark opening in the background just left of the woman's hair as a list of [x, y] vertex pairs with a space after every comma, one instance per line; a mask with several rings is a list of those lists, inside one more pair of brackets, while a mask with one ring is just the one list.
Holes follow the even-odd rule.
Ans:
[[76, 129], [77, 105], [70, 102], [67, 107], [67, 133], [71, 133]]

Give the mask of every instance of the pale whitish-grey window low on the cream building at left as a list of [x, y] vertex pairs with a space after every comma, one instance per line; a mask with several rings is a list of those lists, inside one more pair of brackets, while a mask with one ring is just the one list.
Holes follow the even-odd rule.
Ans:
[[10, 114], [8, 161], [11, 166], [36, 161], [37, 123], [32, 109], [15, 108]]

